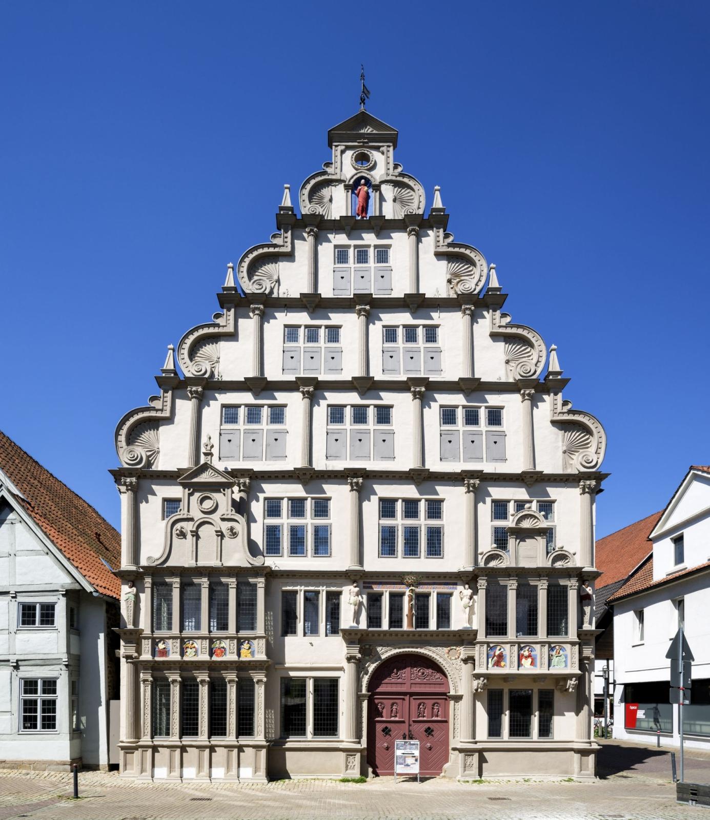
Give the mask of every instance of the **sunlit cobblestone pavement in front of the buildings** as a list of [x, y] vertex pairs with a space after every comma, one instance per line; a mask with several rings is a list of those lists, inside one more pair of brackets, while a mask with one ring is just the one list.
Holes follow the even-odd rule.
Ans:
[[[710, 809], [676, 804], [665, 750], [603, 745], [600, 779], [457, 783], [440, 778], [396, 785], [337, 781], [256, 784], [136, 783], [116, 773], [0, 772], [0, 820], [683, 820]], [[710, 780], [710, 753], [686, 754], [686, 779]]]

